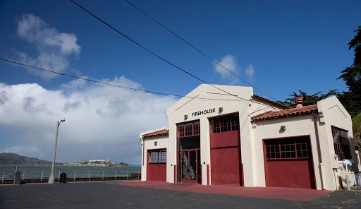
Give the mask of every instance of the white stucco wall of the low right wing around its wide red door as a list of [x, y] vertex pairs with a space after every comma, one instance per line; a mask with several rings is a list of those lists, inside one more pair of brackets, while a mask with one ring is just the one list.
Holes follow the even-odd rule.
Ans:
[[[316, 129], [314, 128], [314, 115], [303, 114], [293, 117], [283, 117], [279, 119], [268, 119], [266, 121], [256, 121], [257, 125], [253, 129], [252, 141], [255, 141], [255, 172], [257, 175], [256, 186], [265, 186], [264, 177], [264, 158], [262, 140], [264, 138], [281, 138], [292, 136], [309, 135], [312, 147], [312, 157], [314, 162], [314, 174], [316, 179], [317, 189], [336, 190], [338, 188], [338, 180], [334, 174], [332, 167], [339, 167], [339, 162], [334, 159], [334, 141], [332, 137], [331, 126], [336, 126], [340, 129], [348, 131], [350, 138], [350, 151], [355, 162], [357, 156], [355, 155], [355, 146], [353, 143], [352, 121], [350, 114], [345, 110], [341, 102], [336, 97], [329, 97], [325, 100], [317, 102], [318, 112], [315, 113], [317, 131], [319, 135], [319, 150], [321, 152], [322, 164], [319, 163], [319, 153], [316, 141]], [[281, 126], [286, 126], [286, 131], [280, 131]], [[257, 151], [258, 150], [258, 151]], [[321, 171], [322, 169], [322, 171]], [[336, 169], [336, 176], [345, 176], [345, 171]], [[347, 173], [349, 178], [354, 177]], [[321, 177], [322, 175], [322, 177]], [[354, 181], [352, 179], [352, 181]]]

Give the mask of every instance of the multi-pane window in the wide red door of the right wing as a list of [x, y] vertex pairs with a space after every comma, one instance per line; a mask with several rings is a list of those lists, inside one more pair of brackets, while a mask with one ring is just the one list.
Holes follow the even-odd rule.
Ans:
[[264, 141], [267, 159], [288, 159], [311, 157], [309, 138], [280, 138]]

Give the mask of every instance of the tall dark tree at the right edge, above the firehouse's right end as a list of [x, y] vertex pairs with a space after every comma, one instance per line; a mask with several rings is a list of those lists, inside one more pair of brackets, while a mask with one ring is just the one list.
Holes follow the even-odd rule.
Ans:
[[341, 71], [338, 77], [348, 86], [348, 91], [340, 93], [338, 99], [352, 117], [361, 112], [361, 26], [355, 32], [355, 37], [348, 42], [348, 49], [355, 52], [353, 64]]

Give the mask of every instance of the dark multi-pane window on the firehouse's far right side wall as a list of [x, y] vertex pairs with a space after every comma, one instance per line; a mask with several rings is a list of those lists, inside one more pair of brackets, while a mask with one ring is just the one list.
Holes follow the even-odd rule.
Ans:
[[334, 138], [335, 154], [338, 160], [351, 159], [350, 141], [348, 131], [331, 126], [332, 137]]

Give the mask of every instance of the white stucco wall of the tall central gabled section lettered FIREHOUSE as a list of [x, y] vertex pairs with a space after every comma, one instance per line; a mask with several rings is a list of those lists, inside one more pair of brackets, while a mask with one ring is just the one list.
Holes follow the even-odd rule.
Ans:
[[[271, 110], [277, 110], [279, 107], [269, 107], [264, 104], [259, 104], [259, 101], [252, 101], [253, 91], [250, 87], [240, 86], [227, 86], [216, 85], [233, 95], [238, 95], [237, 98], [231, 95], [226, 95], [225, 92], [221, 92], [210, 85], [200, 85], [195, 90], [192, 90], [187, 96], [195, 97], [195, 99], [182, 98], [171, 107], [169, 107], [167, 114], [169, 117], [169, 162], [176, 165], [176, 124], [183, 123], [185, 121], [200, 120], [200, 153], [201, 153], [201, 166], [202, 166], [202, 184], [207, 184], [207, 165], [210, 167], [210, 145], [209, 145], [209, 118], [217, 117], [224, 114], [239, 113], [240, 121], [240, 144], [243, 163], [243, 177], [245, 186], [255, 186], [255, 169], [254, 156], [252, 153], [253, 144], [250, 140], [250, 115], [261, 114], [262, 112], [269, 112]], [[216, 100], [197, 100], [199, 98], [216, 99]], [[231, 100], [231, 101], [230, 101]], [[223, 108], [222, 112], [219, 112], [219, 107]], [[216, 112], [210, 114], [202, 114], [200, 116], [192, 116], [192, 112], [198, 112], [206, 109], [216, 109]], [[257, 113], [255, 113], [257, 112]], [[188, 116], [185, 119], [185, 115]], [[171, 161], [172, 160], [172, 161]], [[212, 174], [209, 174], [209, 184], [212, 179]], [[169, 181], [175, 182], [174, 169], [169, 169]]]

